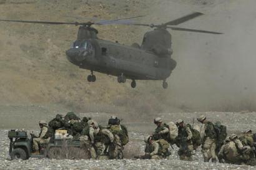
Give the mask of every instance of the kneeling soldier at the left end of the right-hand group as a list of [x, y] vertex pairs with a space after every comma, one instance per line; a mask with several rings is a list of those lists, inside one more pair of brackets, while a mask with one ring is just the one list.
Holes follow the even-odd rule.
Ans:
[[170, 155], [170, 144], [164, 139], [155, 141], [152, 136], [146, 136], [144, 141], [146, 146], [145, 155], [142, 156], [143, 159], [162, 159]]

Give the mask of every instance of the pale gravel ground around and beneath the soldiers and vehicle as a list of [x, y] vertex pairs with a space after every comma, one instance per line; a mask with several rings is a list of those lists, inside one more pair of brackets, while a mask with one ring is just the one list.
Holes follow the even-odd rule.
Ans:
[[[31, 108], [32, 109], [32, 108]], [[61, 113], [61, 111], [59, 111]], [[207, 115], [210, 120], [220, 120], [225, 125], [230, 133], [241, 133], [245, 128], [252, 128], [256, 131], [255, 113], [225, 113], [225, 112], [207, 112], [207, 113], [161, 113], [157, 116], [162, 116], [165, 121], [182, 118], [186, 122], [192, 123], [192, 119], [201, 114]], [[82, 115], [92, 116], [92, 118], [101, 122], [104, 125], [104, 120], [109, 116], [106, 113], [81, 113]], [[11, 117], [11, 115], [9, 115]], [[34, 116], [27, 127], [30, 130], [37, 129], [37, 120]], [[42, 118], [49, 115], [41, 115]], [[49, 119], [49, 118], [48, 118]], [[152, 118], [153, 119], [153, 118]], [[12, 120], [7, 120], [9, 123]], [[15, 121], [17, 123], [17, 121]], [[1, 124], [3, 121], [1, 121]], [[138, 160], [132, 159], [133, 156], [143, 153], [144, 136], [150, 134], [154, 130], [154, 125], [151, 121], [129, 122], [123, 121], [130, 131], [130, 142], [125, 149], [124, 160], [57, 160], [57, 159], [36, 159], [31, 158], [26, 161], [10, 161], [8, 155], [9, 139], [7, 139], [7, 130], [0, 130], [0, 169], [256, 169], [252, 166], [237, 166], [231, 164], [212, 164], [204, 163], [200, 149], [194, 155], [194, 161], [180, 161], [177, 156], [177, 148], [172, 149], [172, 155], [168, 159], [162, 160]], [[197, 124], [197, 121], [195, 121]], [[18, 124], [16, 124], [18, 125]], [[3, 126], [4, 128], [5, 126]], [[20, 125], [20, 127], [22, 127]], [[11, 128], [11, 127], [9, 127]], [[7, 129], [7, 128], [5, 128]]]

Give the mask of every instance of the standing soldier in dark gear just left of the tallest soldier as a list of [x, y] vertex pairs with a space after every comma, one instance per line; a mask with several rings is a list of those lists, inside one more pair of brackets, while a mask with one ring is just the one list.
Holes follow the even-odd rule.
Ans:
[[178, 154], [180, 160], [192, 161], [192, 151], [194, 149], [192, 143], [192, 131], [190, 127], [184, 124], [183, 120], [177, 120], [179, 128], [177, 136], [177, 145], [179, 146]]

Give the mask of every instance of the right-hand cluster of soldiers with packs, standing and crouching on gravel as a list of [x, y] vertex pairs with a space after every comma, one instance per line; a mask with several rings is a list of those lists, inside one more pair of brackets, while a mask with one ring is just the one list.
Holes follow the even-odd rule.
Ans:
[[255, 165], [256, 134], [247, 129], [240, 136], [227, 136], [227, 127], [219, 121], [212, 123], [204, 115], [197, 120], [201, 126], [185, 124], [183, 120], [162, 123], [161, 118], [155, 118], [157, 126], [154, 133], [145, 136], [144, 159], [162, 159], [170, 155], [172, 145], [179, 147], [179, 158], [192, 161], [192, 156], [199, 146], [202, 146], [204, 162], [249, 164]]

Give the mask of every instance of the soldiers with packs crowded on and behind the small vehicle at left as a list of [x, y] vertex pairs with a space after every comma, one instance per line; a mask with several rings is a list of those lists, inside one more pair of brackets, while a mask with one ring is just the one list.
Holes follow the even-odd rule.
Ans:
[[121, 125], [116, 116], [111, 116], [104, 127], [91, 118], [81, 120], [74, 112], [69, 112], [64, 117], [56, 115], [49, 123], [41, 120], [39, 126], [39, 135], [31, 134], [34, 154], [39, 154], [39, 146], [53, 142], [57, 130], [67, 130], [67, 138], [79, 139], [80, 147], [89, 151], [92, 159], [100, 159], [101, 156], [122, 159], [124, 145], [129, 141], [126, 126]]

